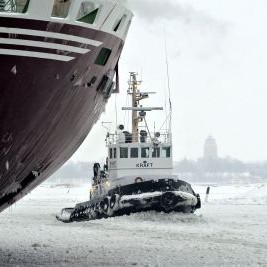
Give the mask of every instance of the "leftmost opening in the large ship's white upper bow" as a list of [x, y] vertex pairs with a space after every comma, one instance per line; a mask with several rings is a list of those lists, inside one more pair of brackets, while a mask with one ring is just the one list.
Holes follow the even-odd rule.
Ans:
[[26, 13], [30, 0], [0, 0], [0, 12]]

